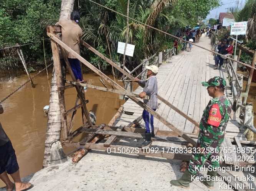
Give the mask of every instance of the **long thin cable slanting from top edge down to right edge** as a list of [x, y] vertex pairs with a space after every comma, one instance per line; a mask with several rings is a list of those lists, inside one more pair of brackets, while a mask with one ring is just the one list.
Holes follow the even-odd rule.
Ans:
[[220, 54], [220, 53], [218, 53], [218, 52], [214, 52], [214, 51], [212, 51], [212, 50], [206, 49], [206, 48], [204, 48], [204, 47], [202, 47], [202, 46], [200, 46], [200, 45], [197, 45], [197, 44], [195, 44], [195, 43], [188, 42], [187, 40], [180, 39], [179, 37], [174, 36], [174, 35], [172, 35], [172, 34], [170, 34], [170, 33], [168, 33], [168, 32], [164, 32], [164, 31], [162, 31], [162, 30], [160, 30], [160, 29], [157, 29], [157, 28], [154, 28], [154, 27], [152, 27], [152, 26], [150, 26], [150, 25], [148, 25], [148, 24], [146, 24], [146, 23], [142, 23], [142, 22], [140, 22], [140, 21], [138, 21], [138, 20], [136, 20], [136, 19], [130, 18], [130, 17], [128, 17], [128, 16], [126, 16], [126, 15], [124, 15], [124, 14], [122, 14], [122, 13], [119, 13], [119, 12], [117, 12], [117, 11], [115, 11], [115, 10], [112, 10], [111, 8], [108, 8], [108, 7], [104, 6], [104, 5], [101, 5], [101, 4], [99, 4], [99, 3], [96, 3], [96, 2], [94, 2], [94, 1], [92, 1], [92, 0], [89, 0], [89, 1], [92, 2], [92, 3], [95, 3], [96, 5], [102, 6], [102, 7], [106, 8], [106, 9], [108, 9], [108, 10], [110, 10], [110, 11], [113, 11], [114, 13], [117, 13], [117, 14], [122, 15], [122, 16], [124, 16], [124, 17], [126, 17], [126, 18], [129, 18], [129, 19], [131, 19], [131, 20], [133, 20], [133, 21], [136, 21], [137, 23], [143, 24], [144, 26], [147, 26], [147, 27], [149, 27], [149, 28], [155, 29], [156, 31], [162, 32], [162, 33], [164, 33], [164, 34], [167, 34], [168, 36], [171, 36], [171, 37], [173, 37], [173, 38], [175, 38], [175, 39], [182, 40], [182, 41], [184, 41], [184, 42], [190, 43], [190, 44], [195, 45], [195, 46], [197, 46], [197, 47], [199, 47], [199, 48], [201, 48], [201, 49], [204, 49], [204, 50], [207, 50], [207, 51], [209, 51], [209, 52], [215, 53], [216, 55], [220, 55], [220, 56], [222, 56], [222, 57], [225, 57], [225, 58], [228, 58], [228, 59], [232, 60], [233, 62], [235, 61], [235, 62], [237, 62], [237, 63], [239, 63], [239, 64], [241, 64], [241, 65], [248, 66], [249, 68], [253, 68], [254, 70], [256, 70], [256, 68], [253, 67], [253, 66], [251, 66], [251, 65], [248, 65], [248, 64], [246, 64], [246, 63], [237, 61], [237, 60], [235, 60], [235, 59], [233, 59], [233, 58], [226, 57], [225, 55], [222, 55], [222, 54]]

